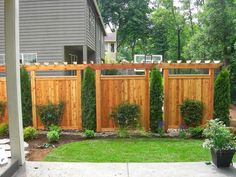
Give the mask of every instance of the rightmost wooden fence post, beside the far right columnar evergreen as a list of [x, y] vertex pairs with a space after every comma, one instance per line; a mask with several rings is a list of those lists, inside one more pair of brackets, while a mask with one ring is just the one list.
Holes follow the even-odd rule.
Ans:
[[208, 120], [213, 118], [214, 111], [214, 79], [215, 79], [215, 69], [209, 69], [210, 75], [210, 105], [209, 105], [209, 117]]

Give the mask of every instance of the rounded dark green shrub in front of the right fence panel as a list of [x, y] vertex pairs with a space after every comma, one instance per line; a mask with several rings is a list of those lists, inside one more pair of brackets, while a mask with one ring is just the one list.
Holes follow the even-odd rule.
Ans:
[[203, 103], [198, 100], [185, 99], [180, 105], [180, 112], [184, 123], [189, 127], [196, 127], [203, 117]]

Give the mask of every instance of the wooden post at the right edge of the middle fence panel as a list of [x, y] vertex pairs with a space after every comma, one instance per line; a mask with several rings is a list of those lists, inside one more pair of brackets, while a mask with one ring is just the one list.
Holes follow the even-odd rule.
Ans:
[[146, 87], [146, 125], [145, 125], [145, 129], [146, 131], [148, 131], [150, 129], [150, 90], [149, 90], [149, 81], [150, 81], [150, 70], [146, 69], [145, 70], [145, 87]]

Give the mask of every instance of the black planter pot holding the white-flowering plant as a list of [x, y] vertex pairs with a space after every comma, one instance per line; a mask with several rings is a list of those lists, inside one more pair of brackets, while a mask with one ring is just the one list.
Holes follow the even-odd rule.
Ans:
[[211, 149], [212, 161], [217, 166], [220, 167], [229, 167], [232, 163], [235, 150], [215, 150]]

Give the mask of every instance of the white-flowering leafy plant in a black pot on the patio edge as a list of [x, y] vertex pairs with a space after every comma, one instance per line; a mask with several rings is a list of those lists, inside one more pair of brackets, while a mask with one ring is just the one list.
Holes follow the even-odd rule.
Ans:
[[236, 151], [235, 136], [218, 119], [209, 121], [203, 135], [207, 138], [203, 147], [211, 150], [212, 161], [217, 168], [229, 167]]

